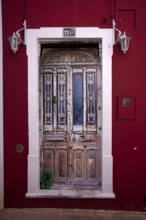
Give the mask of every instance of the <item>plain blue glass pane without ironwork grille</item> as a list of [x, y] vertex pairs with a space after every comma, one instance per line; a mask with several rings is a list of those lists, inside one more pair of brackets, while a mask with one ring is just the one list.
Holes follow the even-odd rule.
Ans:
[[73, 74], [73, 125], [83, 124], [83, 74]]

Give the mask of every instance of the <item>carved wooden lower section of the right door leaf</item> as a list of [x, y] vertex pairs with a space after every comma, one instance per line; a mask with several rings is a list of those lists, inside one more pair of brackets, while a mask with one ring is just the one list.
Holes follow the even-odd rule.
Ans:
[[96, 142], [76, 142], [73, 145], [74, 188], [92, 189], [101, 184], [101, 151]]

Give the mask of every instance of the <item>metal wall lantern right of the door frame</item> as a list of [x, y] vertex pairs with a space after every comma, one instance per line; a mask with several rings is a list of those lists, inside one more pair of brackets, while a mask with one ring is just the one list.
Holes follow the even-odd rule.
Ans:
[[118, 38], [115, 44], [120, 44], [121, 51], [123, 53], [126, 53], [129, 49], [129, 43], [130, 43], [131, 37], [127, 37], [125, 32], [123, 32], [122, 34], [122, 32], [116, 28], [116, 23], [114, 20], [113, 20], [113, 29], [119, 32]]

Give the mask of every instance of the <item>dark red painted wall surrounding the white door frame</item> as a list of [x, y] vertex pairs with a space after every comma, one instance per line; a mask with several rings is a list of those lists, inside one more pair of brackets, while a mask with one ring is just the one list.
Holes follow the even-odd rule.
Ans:
[[[144, 211], [146, 197], [146, 4], [144, 0], [2, 0], [5, 207]], [[22, 27], [117, 27], [132, 37], [126, 55], [113, 54], [113, 180], [116, 199], [26, 199], [28, 112], [25, 46], [15, 55], [7, 37]], [[118, 96], [136, 98], [136, 118], [118, 119]], [[16, 144], [24, 151], [16, 153]]]

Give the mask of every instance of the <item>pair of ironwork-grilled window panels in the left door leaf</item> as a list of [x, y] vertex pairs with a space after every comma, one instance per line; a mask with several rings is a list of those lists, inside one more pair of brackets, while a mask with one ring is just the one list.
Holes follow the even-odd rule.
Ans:
[[45, 69], [43, 82], [44, 131], [66, 131], [67, 69]]

